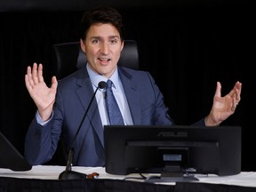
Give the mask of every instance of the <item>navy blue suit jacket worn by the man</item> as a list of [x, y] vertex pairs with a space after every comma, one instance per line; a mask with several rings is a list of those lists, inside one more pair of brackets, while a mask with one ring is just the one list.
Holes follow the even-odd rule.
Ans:
[[[133, 124], [173, 124], [164, 98], [154, 79], [145, 71], [118, 67], [124, 92], [132, 113]], [[86, 68], [59, 81], [52, 120], [44, 126], [36, 118], [28, 128], [25, 157], [30, 164], [49, 161], [60, 140], [70, 148], [84, 112], [92, 99], [93, 88]], [[204, 120], [196, 124], [204, 125]], [[74, 143], [73, 165], [104, 166], [103, 126], [97, 101], [92, 101]]]

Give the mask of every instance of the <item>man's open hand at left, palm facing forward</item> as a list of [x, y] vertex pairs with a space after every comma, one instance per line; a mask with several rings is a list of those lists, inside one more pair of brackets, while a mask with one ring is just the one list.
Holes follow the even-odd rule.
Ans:
[[25, 84], [31, 98], [36, 103], [39, 115], [43, 121], [47, 121], [52, 114], [56, 97], [58, 86], [56, 76], [52, 76], [52, 85], [49, 88], [44, 82], [43, 65], [40, 63], [37, 68], [37, 64], [34, 63], [32, 70], [30, 66], [27, 68]]

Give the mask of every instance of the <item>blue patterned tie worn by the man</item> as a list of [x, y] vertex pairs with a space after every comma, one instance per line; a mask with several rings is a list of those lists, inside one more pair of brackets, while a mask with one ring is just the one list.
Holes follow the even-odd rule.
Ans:
[[124, 124], [123, 116], [118, 108], [115, 96], [112, 92], [112, 81], [108, 79], [106, 88], [106, 107], [110, 124]]

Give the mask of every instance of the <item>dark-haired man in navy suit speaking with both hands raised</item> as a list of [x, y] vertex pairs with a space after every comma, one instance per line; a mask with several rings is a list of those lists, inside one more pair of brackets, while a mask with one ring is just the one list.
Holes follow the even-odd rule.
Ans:
[[[52, 85], [44, 83], [43, 65], [28, 66], [25, 83], [35, 101], [36, 117], [29, 126], [25, 157], [30, 164], [49, 161], [60, 135], [67, 148], [74, 147], [73, 165], [103, 166], [103, 126], [109, 124], [105, 107], [105, 89], [96, 92], [95, 100], [82, 122], [93, 92], [100, 81], [113, 82], [124, 124], [174, 124], [164, 105], [164, 98], [148, 72], [117, 67], [124, 47], [122, 17], [115, 9], [100, 8], [85, 12], [81, 20], [81, 48], [88, 60], [86, 66]], [[210, 114], [198, 125], [215, 126], [231, 116], [240, 101], [242, 84], [236, 82], [225, 96], [218, 82]], [[72, 144], [79, 124], [82, 127]]]

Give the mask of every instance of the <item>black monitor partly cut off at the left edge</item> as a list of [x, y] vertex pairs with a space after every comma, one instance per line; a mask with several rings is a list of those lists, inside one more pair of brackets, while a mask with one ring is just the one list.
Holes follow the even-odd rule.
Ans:
[[20, 152], [0, 132], [0, 168], [10, 169], [14, 172], [25, 172], [32, 169], [32, 165], [20, 154]]

